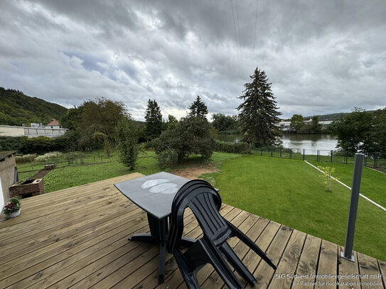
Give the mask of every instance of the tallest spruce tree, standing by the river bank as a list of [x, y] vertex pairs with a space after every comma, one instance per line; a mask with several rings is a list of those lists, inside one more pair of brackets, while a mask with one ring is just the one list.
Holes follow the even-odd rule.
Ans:
[[243, 100], [237, 107], [243, 141], [256, 146], [269, 146], [275, 143], [279, 130], [277, 123], [282, 113], [278, 111], [265, 72], [256, 67], [250, 78], [252, 82], [244, 84], [244, 95], [238, 97]]

